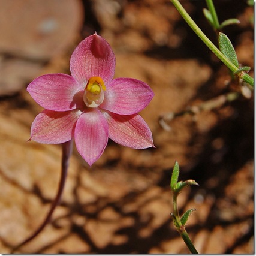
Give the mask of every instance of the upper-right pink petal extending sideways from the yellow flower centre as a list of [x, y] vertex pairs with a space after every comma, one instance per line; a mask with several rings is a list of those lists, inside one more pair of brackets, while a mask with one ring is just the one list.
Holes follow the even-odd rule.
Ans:
[[120, 115], [132, 115], [143, 110], [154, 96], [150, 87], [137, 79], [118, 78], [107, 85], [102, 109]]

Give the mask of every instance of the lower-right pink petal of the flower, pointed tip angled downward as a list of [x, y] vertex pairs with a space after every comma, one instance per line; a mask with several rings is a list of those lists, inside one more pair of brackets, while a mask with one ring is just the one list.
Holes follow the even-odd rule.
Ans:
[[155, 147], [152, 133], [140, 115], [117, 115], [103, 112], [109, 124], [109, 138], [132, 149]]

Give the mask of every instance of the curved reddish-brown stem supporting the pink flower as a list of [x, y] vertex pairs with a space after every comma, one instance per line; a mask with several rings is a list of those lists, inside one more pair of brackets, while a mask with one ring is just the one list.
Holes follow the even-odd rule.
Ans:
[[17, 251], [17, 249], [19, 249], [21, 246], [25, 245], [26, 243], [34, 239], [36, 236], [38, 236], [38, 234], [40, 234], [41, 231], [44, 229], [44, 227], [46, 227], [46, 225], [49, 223], [50, 218], [52, 217], [52, 214], [56, 206], [58, 206], [59, 201], [61, 200], [61, 195], [64, 189], [65, 180], [67, 177], [69, 159], [72, 153], [72, 149], [73, 149], [73, 140], [67, 141], [62, 144], [61, 180], [59, 181], [58, 192], [56, 194], [55, 200], [53, 200], [46, 218], [44, 219], [40, 227], [38, 227], [37, 230], [31, 236], [29, 236], [26, 240], [24, 240], [22, 243], [20, 243], [15, 248], [13, 248], [13, 251], [11, 253], [13, 253], [14, 251]]

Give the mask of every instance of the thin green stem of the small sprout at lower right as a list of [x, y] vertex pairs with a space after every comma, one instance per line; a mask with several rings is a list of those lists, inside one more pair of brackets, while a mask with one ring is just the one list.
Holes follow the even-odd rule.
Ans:
[[182, 225], [180, 221], [179, 210], [177, 206], [177, 195], [178, 194], [176, 194], [175, 192], [173, 193], [173, 212], [174, 213], [172, 215], [173, 215], [174, 225], [177, 228], [177, 231], [179, 232], [186, 246], [188, 247], [189, 251], [192, 254], [198, 254], [197, 249], [195, 249], [195, 246], [193, 245], [191, 239], [188, 236], [188, 233], [186, 232], [185, 226]]

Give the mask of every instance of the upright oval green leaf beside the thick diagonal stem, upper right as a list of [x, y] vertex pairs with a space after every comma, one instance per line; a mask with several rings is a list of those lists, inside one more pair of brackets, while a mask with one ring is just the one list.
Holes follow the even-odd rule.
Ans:
[[219, 32], [219, 49], [237, 68], [239, 67], [236, 52], [231, 41], [228, 39], [227, 35], [221, 32]]

